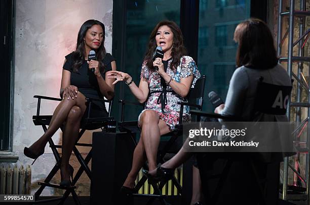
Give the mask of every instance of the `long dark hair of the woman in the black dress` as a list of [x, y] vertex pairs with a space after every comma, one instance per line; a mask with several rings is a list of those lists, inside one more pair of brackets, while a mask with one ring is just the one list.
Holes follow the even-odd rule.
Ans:
[[105, 57], [106, 51], [104, 47], [104, 39], [105, 39], [105, 29], [104, 24], [97, 20], [87, 20], [83, 23], [83, 25], [80, 28], [79, 34], [78, 34], [78, 40], [76, 42], [76, 49], [75, 52], [72, 54], [72, 60], [73, 60], [73, 71], [76, 72], [81, 68], [82, 64], [85, 60], [85, 44], [84, 44], [84, 37], [86, 35], [86, 32], [88, 29], [90, 29], [93, 25], [100, 25], [103, 30], [103, 40], [100, 45], [100, 47], [96, 51], [96, 56], [99, 61], [99, 69], [102, 71], [105, 68], [105, 65], [102, 63], [102, 59]]

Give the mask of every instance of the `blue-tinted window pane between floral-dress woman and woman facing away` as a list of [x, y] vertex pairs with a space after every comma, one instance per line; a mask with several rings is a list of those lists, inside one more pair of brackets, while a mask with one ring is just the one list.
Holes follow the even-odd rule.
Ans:
[[[207, 76], [204, 110], [213, 112], [208, 93], [217, 92], [224, 100], [235, 71], [236, 26], [250, 17], [250, 0], [200, 0], [198, 68]], [[207, 5], [207, 6], [205, 6]]]

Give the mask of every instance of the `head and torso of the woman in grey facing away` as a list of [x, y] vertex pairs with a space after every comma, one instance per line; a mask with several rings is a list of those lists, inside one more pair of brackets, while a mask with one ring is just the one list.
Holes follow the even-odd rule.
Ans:
[[234, 40], [239, 43], [236, 56], [238, 68], [230, 79], [225, 104], [217, 107], [214, 112], [244, 121], [273, 121], [273, 117], [277, 118], [277, 121], [287, 121], [285, 115], [253, 113], [260, 76], [265, 83], [291, 86], [287, 71], [278, 64], [274, 39], [269, 28], [259, 19], [246, 20], [237, 26]]

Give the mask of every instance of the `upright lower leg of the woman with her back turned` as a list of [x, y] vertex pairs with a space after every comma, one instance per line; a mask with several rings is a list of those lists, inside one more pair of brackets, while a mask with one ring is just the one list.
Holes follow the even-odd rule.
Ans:
[[192, 166], [192, 195], [190, 204], [203, 201], [202, 185], [199, 169]]

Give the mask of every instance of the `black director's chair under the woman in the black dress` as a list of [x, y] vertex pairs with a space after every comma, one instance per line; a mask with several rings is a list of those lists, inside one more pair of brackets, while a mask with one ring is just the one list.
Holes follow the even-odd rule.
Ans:
[[[37, 98], [37, 100], [38, 100], [37, 101], [36, 115], [32, 116], [33, 123], [34, 123], [34, 125], [42, 126], [44, 132], [46, 132], [47, 126], [51, 122], [52, 115], [40, 115], [41, 100], [44, 99], [44, 100], [61, 101], [62, 99], [54, 98], [54, 97], [41, 96], [41, 95], [34, 95], [33, 97]], [[102, 128], [102, 130], [104, 130], [104, 131], [109, 131], [106, 128], [107, 127], [106, 125], [107, 124], [115, 124], [114, 123], [115, 122], [114, 119], [112, 117], [110, 117], [112, 100], [97, 99], [97, 98], [86, 98], [86, 100], [87, 100], [87, 103], [88, 103], [87, 110], [85, 111], [86, 112], [86, 118], [81, 122], [81, 126], [80, 126], [81, 129], [80, 129], [80, 132], [79, 132], [79, 137], [76, 140], [75, 146], [73, 147], [74, 155], [78, 159], [79, 163], [81, 164], [81, 167], [78, 170], [78, 172], [76, 172], [76, 174], [75, 174], [75, 176], [73, 178], [72, 186], [70, 186], [70, 187], [66, 186], [65, 187], [65, 186], [60, 186], [58, 184], [50, 183], [52, 178], [55, 176], [55, 174], [60, 169], [61, 157], [59, 155], [59, 152], [58, 152], [57, 148], [61, 148], [62, 147], [61, 145], [54, 144], [53, 139], [51, 138], [49, 140], [49, 144], [50, 144], [50, 147], [51, 147], [51, 149], [53, 151], [53, 155], [55, 157], [56, 164], [53, 167], [53, 169], [51, 170], [51, 172], [49, 173], [49, 175], [47, 176], [47, 178], [44, 180], [44, 182], [38, 182], [38, 184], [41, 185], [41, 186], [34, 194], [34, 198], [35, 198], [35, 202], [34, 203], [44, 203], [44, 202], [60, 200], [59, 204], [63, 204], [64, 201], [66, 200], [66, 198], [71, 193], [72, 198], [73, 198], [75, 204], [81, 204], [80, 201], [79, 201], [78, 195], [74, 191], [74, 189], [76, 188], [74, 186], [74, 184], [79, 180], [79, 178], [81, 177], [83, 172], [85, 172], [87, 174], [87, 176], [89, 178], [91, 178], [91, 170], [88, 167], [88, 163], [90, 162], [90, 160], [92, 158], [92, 149], [90, 150], [90, 152], [88, 153], [88, 155], [84, 159], [82, 157], [81, 153], [79, 152], [78, 148], [76, 148], [76, 146], [92, 147], [92, 144], [79, 143], [79, 139], [82, 137], [82, 135], [84, 134], [84, 132], [86, 130], [94, 130], [94, 129]], [[92, 104], [93, 104], [94, 101], [100, 101], [103, 104], [104, 103], [108, 103], [109, 104], [108, 110], [107, 110], [108, 111], [108, 117], [92, 118], [90, 116], [91, 109], [92, 109]], [[63, 130], [62, 127], [61, 127], [61, 130]], [[54, 188], [64, 189], [65, 193], [61, 197], [40, 200], [39, 197], [40, 197], [40, 195], [41, 195], [41, 193], [42, 193], [42, 191], [44, 190], [45, 187], [54, 187]]]

